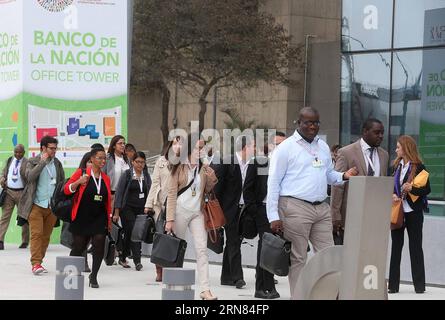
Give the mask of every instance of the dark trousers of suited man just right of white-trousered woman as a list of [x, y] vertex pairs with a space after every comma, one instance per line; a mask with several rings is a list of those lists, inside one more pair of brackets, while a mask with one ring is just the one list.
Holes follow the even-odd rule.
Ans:
[[236, 216], [224, 226], [226, 232], [226, 246], [221, 270], [221, 282], [236, 282], [243, 279], [241, 267], [241, 238], [238, 231], [238, 220], [241, 209]]

